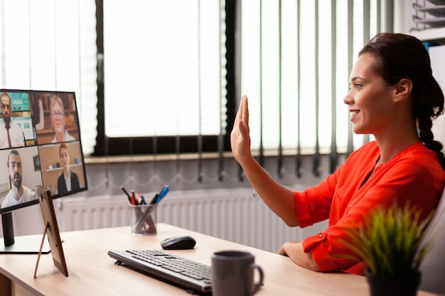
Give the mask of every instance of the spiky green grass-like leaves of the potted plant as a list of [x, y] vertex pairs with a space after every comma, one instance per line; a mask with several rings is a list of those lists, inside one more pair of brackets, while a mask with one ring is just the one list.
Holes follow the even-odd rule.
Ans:
[[410, 207], [377, 207], [358, 227], [346, 228], [350, 240], [343, 241], [356, 262], [365, 261], [375, 275], [406, 275], [419, 270], [431, 241], [424, 242], [425, 229], [433, 213], [421, 219], [422, 211]]

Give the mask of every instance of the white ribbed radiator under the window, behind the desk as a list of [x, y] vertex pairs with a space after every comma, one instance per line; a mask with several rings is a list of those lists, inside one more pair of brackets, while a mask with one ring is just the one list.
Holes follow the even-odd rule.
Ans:
[[[147, 195], [148, 196], [148, 195]], [[129, 226], [128, 200], [119, 197], [56, 199], [61, 231]], [[301, 241], [326, 226], [286, 226], [251, 189], [170, 192], [157, 209], [157, 221], [220, 239], [275, 252], [286, 241]], [[129, 229], [130, 231], [130, 229]]]

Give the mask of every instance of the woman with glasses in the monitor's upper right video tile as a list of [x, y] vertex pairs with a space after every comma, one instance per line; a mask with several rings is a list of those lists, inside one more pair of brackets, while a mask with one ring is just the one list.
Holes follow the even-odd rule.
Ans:
[[65, 109], [63, 108], [62, 99], [55, 95], [50, 97], [50, 118], [51, 128], [53, 128], [55, 133], [51, 143], [75, 141], [75, 138], [66, 130]]

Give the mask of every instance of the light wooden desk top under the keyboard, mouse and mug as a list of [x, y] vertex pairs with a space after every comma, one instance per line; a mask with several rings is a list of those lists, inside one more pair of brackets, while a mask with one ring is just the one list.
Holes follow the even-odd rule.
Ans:
[[[114, 265], [109, 250], [161, 249], [160, 242], [171, 236], [191, 235], [193, 250], [168, 251], [211, 264], [215, 251], [250, 251], [264, 270], [264, 286], [257, 295], [369, 295], [364, 277], [345, 273], [316, 273], [296, 265], [291, 259], [257, 248], [242, 246], [168, 224], [158, 224], [155, 236], [132, 236], [130, 228], [64, 232], [63, 250], [68, 278], [53, 266], [50, 255], [42, 255], [37, 279], [33, 278], [37, 255], [0, 255], [0, 292], [9, 293], [12, 282], [33, 295], [188, 295], [185, 290], [163, 283], [129, 268]], [[3, 280], [3, 282], [1, 282]], [[14, 292], [14, 289], [12, 289]], [[4, 294], [6, 295], [6, 294]], [[418, 296], [432, 295], [419, 292]]]

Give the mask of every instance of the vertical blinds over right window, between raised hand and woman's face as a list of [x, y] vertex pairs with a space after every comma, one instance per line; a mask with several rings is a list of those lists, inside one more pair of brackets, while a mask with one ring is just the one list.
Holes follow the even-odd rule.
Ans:
[[336, 153], [369, 141], [349, 132], [343, 98], [381, 10], [378, 0], [242, 1], [241, 92], [260, 156], [311, 153], [317, 173], [318, 154], [334, 156], [333, 170]]

